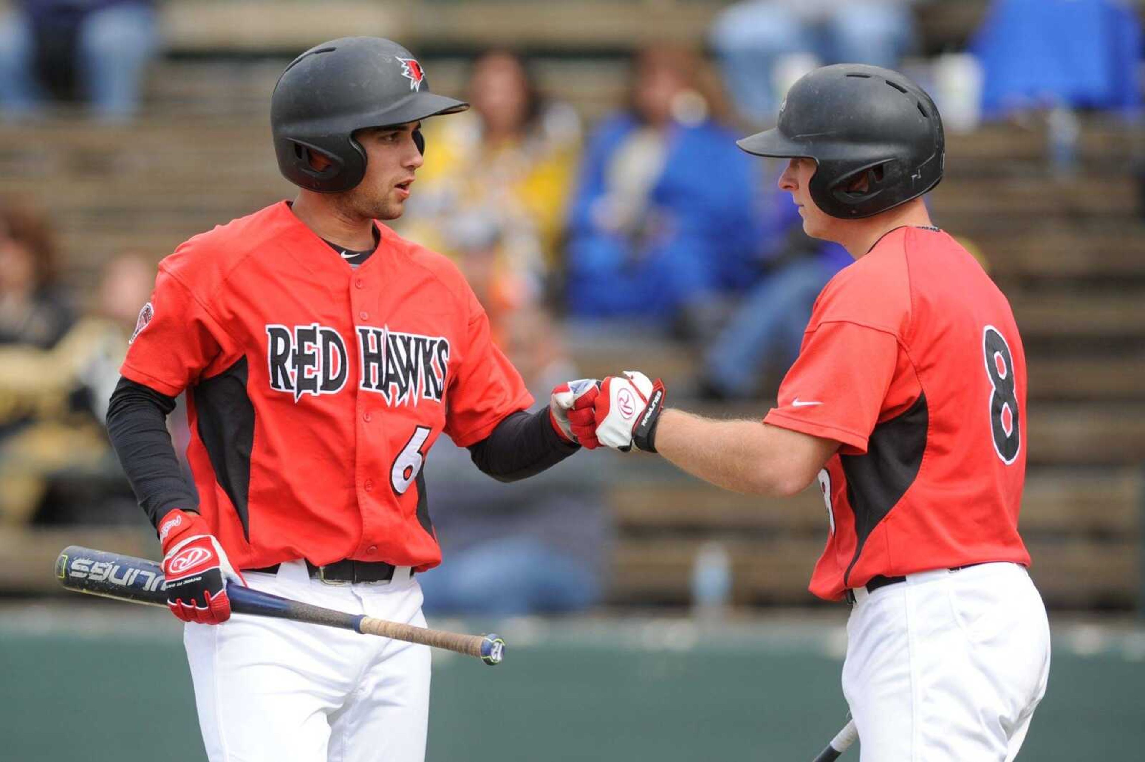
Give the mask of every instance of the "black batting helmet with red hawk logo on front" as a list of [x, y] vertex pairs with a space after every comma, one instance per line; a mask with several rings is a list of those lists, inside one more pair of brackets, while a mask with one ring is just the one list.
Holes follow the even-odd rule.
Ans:
[[[270, 129], [283, 176], [321, 193], [350, 190], [365, 175], [365, 151], [354, 132], [456, 113], [468, 103], [429, 92], [409, 50], [378, 37], [344, 37], [294, 58], [270, 98]], [[425, 143], [414, 133], [418, 149]], [[310, 165], [319, 153], [331, 164]]]

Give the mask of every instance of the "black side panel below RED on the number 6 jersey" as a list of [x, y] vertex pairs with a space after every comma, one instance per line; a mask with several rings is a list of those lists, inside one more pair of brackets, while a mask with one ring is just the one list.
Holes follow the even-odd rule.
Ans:
[[214, 468], [215, 481], [227, 492], [251, 539], [248, 497], [251, 452], [254, 449], [254, 405], [246, 394], [246, 357], [195, 387], [199, 439]]

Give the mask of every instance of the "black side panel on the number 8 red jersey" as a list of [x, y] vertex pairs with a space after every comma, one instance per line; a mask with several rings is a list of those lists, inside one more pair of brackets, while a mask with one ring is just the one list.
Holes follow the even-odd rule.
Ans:
[[926, 395], [921, 394], [905, 413], [875, 427], [867, 440], [866, 455], [839, 455], [859, 538], [855, 555], [843, 576], [844, 585], [850, 586], [851, 570], [859, 562], [867, 538], [915, 483], [926, 451], [929, 418]]

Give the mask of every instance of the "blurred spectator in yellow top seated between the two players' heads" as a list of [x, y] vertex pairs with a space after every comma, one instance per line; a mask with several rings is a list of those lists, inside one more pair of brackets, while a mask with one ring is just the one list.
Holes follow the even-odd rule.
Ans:
[[476, 61], [468, 100], [468, 112], [426, 122], [426, 162], [398, 224], [457, 259], [496, 324], [543, 296], [560, 269], [581, 124], [570, 106], [545, 103], [505, 50]]

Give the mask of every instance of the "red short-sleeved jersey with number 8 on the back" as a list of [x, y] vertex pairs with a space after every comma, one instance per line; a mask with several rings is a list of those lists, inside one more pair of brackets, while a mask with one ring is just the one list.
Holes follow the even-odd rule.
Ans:
[[1029, 564], [1018, 535], [1026, 360], [1010, 304], [947, 233], [899, 228], [823, 288], [765, 421], [836, 439], [811, 592]]

